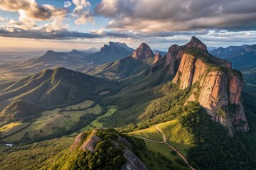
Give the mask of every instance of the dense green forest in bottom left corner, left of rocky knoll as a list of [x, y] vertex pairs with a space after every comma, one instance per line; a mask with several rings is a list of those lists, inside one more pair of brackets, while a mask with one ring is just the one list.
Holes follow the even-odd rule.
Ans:
[[48, 163], [48, 159], [60, 157], [67, 146], [73, 143], [73, 137], [61, 137], [55, 140], [36, 142], [31, 145], [14, 145], [0, 154], [0, 169], [39, 169]]

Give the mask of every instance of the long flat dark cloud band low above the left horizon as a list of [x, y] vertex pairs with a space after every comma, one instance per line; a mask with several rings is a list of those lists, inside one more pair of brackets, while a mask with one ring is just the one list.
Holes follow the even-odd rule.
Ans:
[[92, 33], [80, 33], [78, 31], [58, 30], [55, 32], [44, 32], [41, 30], [23, 30], [14, 27], [1, 27], [1, 37], [9, 38], [32, 38], [48, 40], [72, 40], [78, 38], [101, 38], [101, 35]]

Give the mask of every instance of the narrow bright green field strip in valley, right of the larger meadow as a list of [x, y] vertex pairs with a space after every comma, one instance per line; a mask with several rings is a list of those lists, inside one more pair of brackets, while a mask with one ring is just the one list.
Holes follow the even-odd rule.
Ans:
[[108, 118], [110, 115], [112, 115], [115, 111], [117, 111], [117, 106], [108, 106], [107, 107], [107, 113], [104, 115], [98, 116], [95, 120], [93, 120], [90, 125], [86, 125], [84, 128], [78, 130], [78, 132], [73, 132], [71, 136], [78, 135], [78, 133], [83, 132], [85, 130], [91, 130], [94, 128], [101, 128], [103, 125], [103, 122], [98, 121], [99, 119]]

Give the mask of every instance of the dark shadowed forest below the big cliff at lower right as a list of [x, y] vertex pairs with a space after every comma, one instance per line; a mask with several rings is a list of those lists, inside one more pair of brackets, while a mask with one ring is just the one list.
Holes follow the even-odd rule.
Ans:
[[230, 137], [196, 103], [187, 109], [189, 112], [180, 120], [194, 135], [193, 145], [188, 149], [189, 162], [196, 163], [197, 169], [255, 169], [255, 132], [237, 132]]

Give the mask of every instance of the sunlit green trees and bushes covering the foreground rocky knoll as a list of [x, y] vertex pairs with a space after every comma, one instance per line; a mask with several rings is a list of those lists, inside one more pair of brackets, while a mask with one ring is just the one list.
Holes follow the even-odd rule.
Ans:
[[[91, 136], [89, 131], [85, 134], [85, 142]], [[68, 150], [61, 158], [53, 159], [50, 167], [43, 169], [120, 169], [127, 162], [124, 158], [124, 148], [122, 143], [117, 141], [118, 132], [112, 129], [99, 129], [95, 132], [102, 141], [97, 142], [94, 152], [83, 151], [80, 145], [75, 150]], [[118, 145], [114, 145], [117, 142]]]

